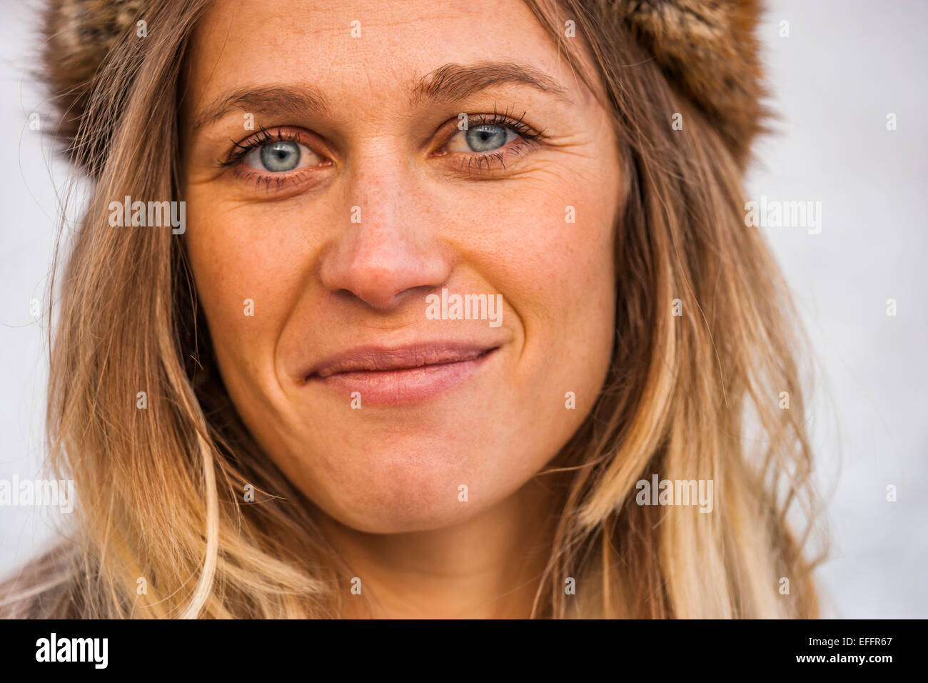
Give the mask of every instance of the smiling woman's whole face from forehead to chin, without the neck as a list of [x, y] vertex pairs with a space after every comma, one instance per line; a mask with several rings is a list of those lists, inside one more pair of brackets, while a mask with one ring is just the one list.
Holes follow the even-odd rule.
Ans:
[[220, 373], [317, 506], [437, 529], [558, 453], [612, 352], [619, 158], [528, 7], [217, 2], [184, 119]]

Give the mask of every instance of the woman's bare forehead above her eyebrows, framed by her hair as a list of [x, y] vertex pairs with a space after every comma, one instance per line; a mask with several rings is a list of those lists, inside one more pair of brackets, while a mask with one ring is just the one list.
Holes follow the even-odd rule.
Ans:
[[194, 33], [189, 69], [199, 103], [291, 82], [388, 106], [444, 64], [488, 61], [548, 74], [575, 103], [590, 98], [522, 0], [217, 0]]

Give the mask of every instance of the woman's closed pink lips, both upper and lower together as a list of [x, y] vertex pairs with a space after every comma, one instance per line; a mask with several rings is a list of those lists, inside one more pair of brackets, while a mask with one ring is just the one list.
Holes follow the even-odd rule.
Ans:
[[366, 405], [400, 405], [431, 399], [477, 373], [498, 344], [432, 342], [398, 348], [356, 347], [316, 363], [305, 385], [354, 391]]

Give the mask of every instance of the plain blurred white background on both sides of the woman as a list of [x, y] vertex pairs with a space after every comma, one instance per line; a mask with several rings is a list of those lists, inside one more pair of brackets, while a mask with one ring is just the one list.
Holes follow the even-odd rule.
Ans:
[[[32, 320], [30, 300], [45, 293], [67, 169], [28, 127], [42, 98], [29, 75], [35, 3], [0, 7], [0, 479], [28, 479], [43, 453], [47, 373], [47, 325]], [[928, 4], [767, 7], [760, 34], [780, 121], [756, 148], [748, 191], [822, 205], [818, 235], [762, 230], [819, 365], [808, 417], [834, 536], [820, 571], [826, 615], [928, 617]], [[896, 131], [886, 130], [889, 112]], [[888, 484], [896, 503], [885, 500]], [[0, 507], [0, 573], [48, 541], [49, 515]]]

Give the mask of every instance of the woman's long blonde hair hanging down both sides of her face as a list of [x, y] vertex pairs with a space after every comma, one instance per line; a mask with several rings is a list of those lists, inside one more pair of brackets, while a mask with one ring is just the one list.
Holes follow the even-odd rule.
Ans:
[[[528, 5], [582, 78], [558, 28], [565, 11], [576, 21], [625, 164], [612, 367], [538, 475], [568, 485], [533, 615], [816, 617], [802, 337], [776, 264], [744, 225], [741, 166], [607, 3]], [[70, 151], [93, 190], [61, 275], [46, 418], [48, 465], [75, 481], [79, 506], [69, 541], [6, 584], [12, 616], [342, 614], [352, 574], [238, 419], [183, 240], [108, 222], [114, 198], [180, 197], [182, 64], [205, 6], [150, 3], [148, 23], [172, 30], [112, 46], [86, 94]], [[712, 514], [637, 505], [636, 482], [652, 474], [712, 480]], [[274, 493], [243, 505], [246, 483]], [[792, 511], [806, 524], [798, 537]]]

